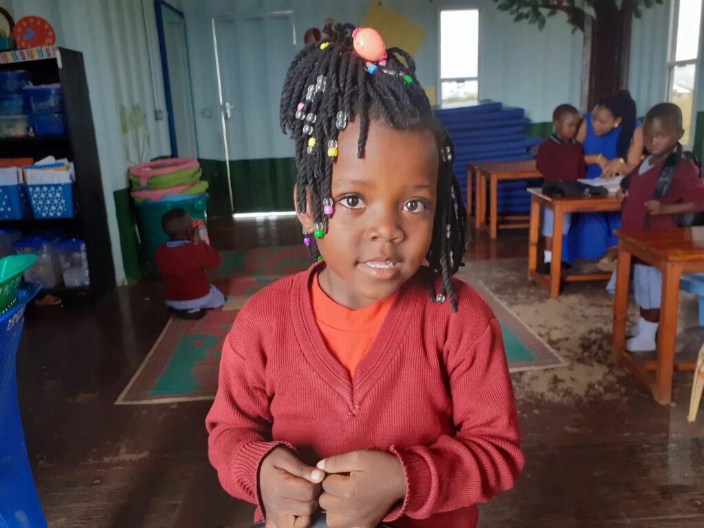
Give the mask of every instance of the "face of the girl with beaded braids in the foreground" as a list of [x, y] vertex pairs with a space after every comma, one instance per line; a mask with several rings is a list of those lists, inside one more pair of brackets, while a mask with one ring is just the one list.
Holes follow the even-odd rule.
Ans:
[[[358, 137], [359, 120], [339, 134], [332, 171], [335, 213], [318, 240], [326, 264], [320, 284], [333, 301], [353, 310], [393, 295], [424, 262], [439, 165], [428, 130], [394, 130], [373, 120], [362, 159]], [[306, 229], [313, 227], [308, 213], [299, 218]]]

